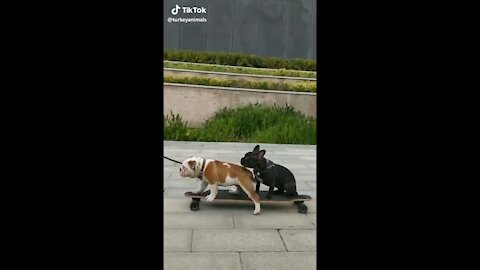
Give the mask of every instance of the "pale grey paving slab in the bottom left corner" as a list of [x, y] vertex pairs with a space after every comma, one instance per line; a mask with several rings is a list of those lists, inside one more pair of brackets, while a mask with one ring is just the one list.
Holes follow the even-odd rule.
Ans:
[[163, 259], [166, 270], [242, 270], [238, 252], [164, 252]]

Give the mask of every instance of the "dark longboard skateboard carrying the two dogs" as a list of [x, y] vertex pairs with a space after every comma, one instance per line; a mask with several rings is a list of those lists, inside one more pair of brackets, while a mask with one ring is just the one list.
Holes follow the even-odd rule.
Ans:
[[[271, 199], [267, 199], [268, 191], [260, 191], [258, 194], [260, 196], [260, 203], [286, 203], [293, 202], [298, 205], [298, 212], [306, 214], [308, 211], [305, 201], [312, 200], [312, 197], [308, 195], [298, 195], [297, 197], [286, 198], [284, 194], [273, 193]], [[185, 192], [185, 197], [192, 198], [190, 203], [190, 210], [198, 211], [200, 209], [200, 200], [206, 200], [205, 197], [210, 194], [210, 191], [203, 192], [202, 194], [192, 194], [192, 192]], [[244, 192], [231, 193], [228, 190], [219, 190], [217, 197], [213, 201], [249, 201], [252, 200]]]

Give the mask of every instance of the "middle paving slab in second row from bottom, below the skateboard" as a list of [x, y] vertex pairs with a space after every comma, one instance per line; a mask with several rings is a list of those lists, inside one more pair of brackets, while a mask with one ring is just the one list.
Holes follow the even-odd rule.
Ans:
[[192, 251], [286, 251], [276, 230], [194, 230]]

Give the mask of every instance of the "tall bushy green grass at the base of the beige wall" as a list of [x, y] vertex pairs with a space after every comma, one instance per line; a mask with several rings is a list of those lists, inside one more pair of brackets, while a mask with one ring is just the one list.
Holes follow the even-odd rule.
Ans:
[[217, 112], [202, 128], [186, 127], [179, 115], [164, 117], [164, 140], [317, 144], [317, 123], [291, 106], [259, 104]]

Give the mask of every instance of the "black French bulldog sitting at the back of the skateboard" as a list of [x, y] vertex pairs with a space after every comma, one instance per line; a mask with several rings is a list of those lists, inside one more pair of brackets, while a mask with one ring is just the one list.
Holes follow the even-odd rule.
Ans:
[[260, 151], [260, 145], [255, 146], [252, 152], [248, 152], [240, 160], [240, 163], [248, 168], [253, 169], [255, 178], [257, 179], [256, 191], [260, 191], [260, 182], [269, 187], [267, 192], [267, 199], [272, 198], [273, 189], [276, 187], [275, 193], [282, 193], [285, 191], [286, 197], [296, 197], [297, 186], [295, 177], [287, 168], [275, 164], [272, 161], [265, 159], [263, 156], [266, 151]]

